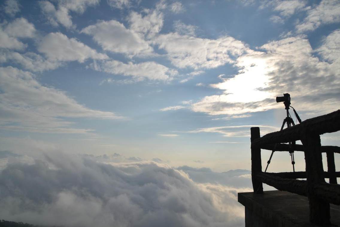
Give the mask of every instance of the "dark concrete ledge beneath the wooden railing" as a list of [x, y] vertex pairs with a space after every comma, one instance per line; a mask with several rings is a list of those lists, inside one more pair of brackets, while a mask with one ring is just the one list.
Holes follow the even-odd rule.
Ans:
[[[309, 202], [305, 196], [285, 191], [238, 193], [245, 207], [245, 227], [316, 226], [309, 222]], [[340, 226], [340, 207], [330, 205], [331, 223]]]

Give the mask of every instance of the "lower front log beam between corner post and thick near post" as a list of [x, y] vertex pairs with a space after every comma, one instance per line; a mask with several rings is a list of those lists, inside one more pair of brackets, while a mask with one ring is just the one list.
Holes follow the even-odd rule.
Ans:
[[265, 172], [256, 173], [256, 178], [280, 191], [287, 191], [303, 196], [307, 195], [307, 181], [305, 180], [281, 178]]

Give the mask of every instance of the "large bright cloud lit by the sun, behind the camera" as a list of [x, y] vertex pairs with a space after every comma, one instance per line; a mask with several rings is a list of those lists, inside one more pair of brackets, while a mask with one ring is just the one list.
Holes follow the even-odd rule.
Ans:
[[266, 52], [250, 51], [237, 59], [239, 74], [211, 85], [223, 94], [206, 96], [191, 109], [209, 115], [264, 111], [281, 107], [274, 98], [287, 92], [300, 111], [321, 114], [337, 109], [338, 62], [320, 61], [312, 55], [309, 41], [299, 36], [272, 41], [260, 49]]

